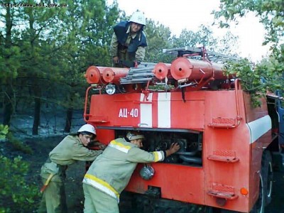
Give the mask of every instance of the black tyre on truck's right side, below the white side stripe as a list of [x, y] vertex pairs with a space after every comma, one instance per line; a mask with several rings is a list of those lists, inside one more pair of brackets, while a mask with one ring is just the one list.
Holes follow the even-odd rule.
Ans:
[[271, 203], [272, 186], [273, 186], [273, 165], [270, 151], [263, 151], [261, 160], [261, 175], [263, 177], [263, 196], [265, 206]]

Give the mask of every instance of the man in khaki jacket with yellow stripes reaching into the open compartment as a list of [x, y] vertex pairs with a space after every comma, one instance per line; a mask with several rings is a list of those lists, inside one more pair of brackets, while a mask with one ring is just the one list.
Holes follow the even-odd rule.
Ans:
[[84, 213], [119, 212], [119, 195], [129, 183], [137, 163], [153, 163], [180, 149], [173, 143], [166, 151], [147, 152], [143, 146], [144, 136], [133, 132], [126, 138], [117, 138], [109, 143], [102, 155], [94, 160], [84, 175]]

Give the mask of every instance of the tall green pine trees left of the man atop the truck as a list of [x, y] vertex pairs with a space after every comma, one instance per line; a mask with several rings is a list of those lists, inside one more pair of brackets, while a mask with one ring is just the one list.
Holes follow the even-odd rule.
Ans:
[[9, 100], [11, 105], [4, 109], [7, 118], [16, 109], [17, 99], [29, 99], [32, 107], [40, 107], [44, 100], [82, 109], [87, 86], [82, 73], [89, 65], [111, 65], [112, 26], [121, 12], [117, 2], [111, 6], [105, 0], [57, 3], [67, 6], [0, 9], [4, 26], [0, 28], [0, 70], [4, 70], [0, 82], [9, 82], [9, 91], [6, 85], [0, 89], [4, 104]]

